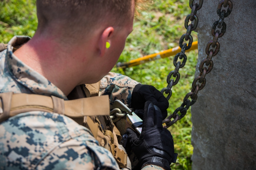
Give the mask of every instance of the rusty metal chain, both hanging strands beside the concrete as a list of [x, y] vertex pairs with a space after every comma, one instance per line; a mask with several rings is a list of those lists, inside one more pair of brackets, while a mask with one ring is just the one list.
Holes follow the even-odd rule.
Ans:
[[[187, 33], [186, 34], [183, 34], [182, 37], [180, 38], [180, 44], [183, 43], [184, 41], [184, 37], [185, 37], [185, 40], [188, 40], [189, 39], [189, 44], [190, 44], [190, 39], [191, 41], [193, 41], [193, 38], [192, 36], [190, 35], [191, 31], [195, 30], [196, 29], [196, 26], [197, 26], [197, 23], [198, 23], [198, 18], [196, 16], [196, 12], [197, 10], [199, 10], [201, 7], [202, 7], [202, 3], [203, 1], [199, 1], [199, 5], [197, 3], [195, 3], [193, 5], [193, 1], [194, 0], [189, 0], [189, 7], [192, 9], [191, 10], [191, 14], [189, 14], [186, 19], [185, 19], [185, 28], [187, 29]], [[222, 9], [222, 6], [223, 7], [228, 7], [227, 11], [225, 9]], [[185, 98], [183, 99], [183, 103], [181, 104], [180, 107], [178, 107], [174, 112], [173, 114], [171, 114], [170, 116], [167, 117], [167, 119], [165, 119], [163, 121], [163, 123], [165, 123], [166, 125], [164, 126], [164, 128], [168, 128], [170, 127], [171, 125], [173, 125], [174, 123], [176, 123], [178, 120], [182, 119], [186, 113], [187, 113], [187, 110], [189, 109], [190, 106], [192, 106], [196, 100], [197, 100], [197, 93], [199, 90], [203, 89], [205, 84], [206, 84], [206, 74], [208, 74], [209, 72], [211, 72], [212, 68], [213, 68], [213, 61], [212, 61], [212, 57], [213, 56], [216, 56], [220, 50], [220, 43], [218, 42], [218, 38], [222, 37], [225, 32], [226, 32], [226, 28], [227, 28], [227, 25], [226, 23], [224, 22], [224, 18], [228, 17], [230, 15], [230, 13], [232, 12], [232, 8], [233, 8], [233, 4], [230, 0], [221, 0], [218, 4], [218, 8], [217, 8], [217, 14], [218, 16], [220, 17], [218, 21], [215, 21], [212, 25], [212, 29], [211, 29], [211, 34], [212, 36], [214, 37], [213, 40], [209, 41], [206, 45], [206, 49], [205, 49], [205, 53], [207, 54], [207, 57], [205, 59], [203, 59], [199, 65], [199, 71], [200, 71], [200, 74], [199, 76], [195, 77], [193, 83], [192, 83], [192, 90], [191, 92], [187, 93], [187, 95], [185, 96]], [[193, 14], [193, 16], [192, 16]], [[193, 21], [195, 20], [195, 23], [194, 25], [191, 25], [189, 24], [187, 26], [187, 23], [188, 23], [188, 19], [190, 21]], [[192, 20], [191, 20], [192, 19]], [[196, 25], [196, 26], [195, 26]], [[216, 27], [218, 26], [218, 28], [220, 29], [221, 28], [221, 32], [219, 30], [216, 30]], [[191, 37], [191, 38], [190, 38]], [[191, 42], [192, 43], [192, 42]], [[180, 57], [180, 59], [184, 58], [184, 60], [186, 60], [187, 58], [184, 57], [186, 56], [183, 51], [185, 52], [186, 48], [184, 47], [186, 43], [184, 43], [184, 45], [180, 48], [182, 48], [182, 51], [181, 53], [178, 53], [175, 57], [174, 57], [174, 63], [176, 64], [176, 61], [177, 61], [177, 58], [179, 56], [182, 56]], [[189, 46], [189, 45], [188, 45]], [[210, 47], [212, 48], [215, 48], [215, 49], [210, 49]], [[176, 65], [175, 65], [175, 70], [174, 71], [171, 71], [169, 73], [169, 75], [167, 76], [167, 87], [163, 88], [161, 90], [161, 92], [165, 92], [166, 94], [169, 93], [169, 95], [167, 96], [167, 99], [169, 100], [170, 96], [172, 95], [171, 93], [171, 87], [175, 84], [178, 83], [178, 80], [179, 80], [179, 73], [178, 73], [178, 70], [179, 68], [182, 68], [184, 67], [186, 61], [182, 62], [182, 64], [180, 64], [180, 62], [178, 62]], [[183, 65], [184, 64], [184, 65]], [[182, 66], [182, 67], [181, 67]], [[205, 67], [207, 66], [207, 67]], [[177, 68], [178, 67], [178, 68]], [[175, 79], [175, 81], [173, 79], [170, 79], [170, 77], [173, 75], [173, 77], [176, 77], [177, 78]], [[198, 84], [198, 83], [200, 84]], [[188, 98], [191, 98], [192, 100], [190, 101]], [[178, 114], [178, 112], [180, 112], [180, 114]], [[170, 120], [172, 119], [173, 120]]]

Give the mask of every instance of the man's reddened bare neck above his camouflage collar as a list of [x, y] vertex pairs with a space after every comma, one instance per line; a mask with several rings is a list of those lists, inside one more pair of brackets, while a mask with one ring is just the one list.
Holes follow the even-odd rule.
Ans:
[[[29, 67], [46, 77], [65, 95], [81, 84], [81, 72], [86, 72], [87, 58], [82, 61], [74, 52], [76, 47], [63, 45], [51, 39], [35, 36], [14, 52], [14, 54]], [[83, 50], [88, 51], [88, 50]], [[77, 54], [87, 56], [86, 54]], [[82, 65], [84, 64], [84, 65]], [[83, 66], [83, 70], [79, 67]], [[83, 78], [86, 79], [84, 76]]]

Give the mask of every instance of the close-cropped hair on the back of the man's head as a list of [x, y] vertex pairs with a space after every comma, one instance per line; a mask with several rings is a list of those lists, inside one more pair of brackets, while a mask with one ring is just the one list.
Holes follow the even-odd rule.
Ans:
[[75, 36], [89, 34], [102, 25], [119, 27], [130, 19], [132, 1], [37, 0], [38, 31], [57, 28], [57, 33], [62, 29], [66, 36]]

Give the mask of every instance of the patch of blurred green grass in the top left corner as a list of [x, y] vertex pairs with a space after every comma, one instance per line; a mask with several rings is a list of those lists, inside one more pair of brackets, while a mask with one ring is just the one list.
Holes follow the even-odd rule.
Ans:
[[37, 28], [35, 0], [0, 1], [0, 41], [8, 43], [14, 35], [32, 37]]

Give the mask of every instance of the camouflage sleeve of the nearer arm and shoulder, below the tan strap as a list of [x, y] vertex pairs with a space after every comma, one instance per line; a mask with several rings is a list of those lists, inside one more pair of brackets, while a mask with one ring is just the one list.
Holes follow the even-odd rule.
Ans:
[[0, 169], [114, 169], [91, 132], [56, 113], [26, 112], [0, 124]]

